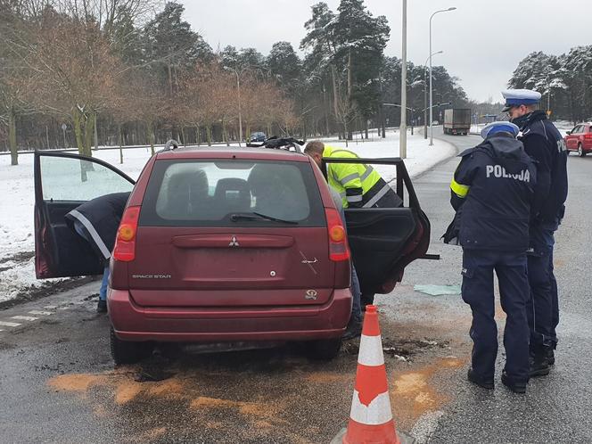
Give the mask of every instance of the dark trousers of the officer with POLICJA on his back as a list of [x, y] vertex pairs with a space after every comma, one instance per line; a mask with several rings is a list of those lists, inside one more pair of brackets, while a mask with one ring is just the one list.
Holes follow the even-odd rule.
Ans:
[[497, 358], [496, 304], [493, 272], [499, 283], [500, 302], [506, 312], [504, 347], [506, 374], [515, 382], [529, 379], [529, 299], [526, 252], [463, 249], [463, 300], [471, 306], [473, 371], [492, 380]]

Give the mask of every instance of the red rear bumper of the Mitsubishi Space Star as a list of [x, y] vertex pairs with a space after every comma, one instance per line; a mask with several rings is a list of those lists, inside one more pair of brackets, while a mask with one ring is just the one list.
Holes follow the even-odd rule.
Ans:
[[341, 337], [351, 292], [340, 289], [321, 306], [258, 308], [141, 307], [125, 290], [109, 290], [111, 325], [125, 341], [308, 341]]

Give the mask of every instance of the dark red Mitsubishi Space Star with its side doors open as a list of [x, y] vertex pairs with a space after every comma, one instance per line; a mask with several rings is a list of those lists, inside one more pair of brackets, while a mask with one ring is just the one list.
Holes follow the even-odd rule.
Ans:
[[403, 161], [359, 161], [396, 166], [410, 204], [348, 210], [346, 238], [321, 170], [301, 152], [165, 150], [136, 184], [103, 160], [36, 152], [37, 277], [101, 274], [64, 215], [132, 190], [107, 297], [117, 364], [154, 341], [310, 341], [313, 356], [333, 358], [351, 312], [349, 248], [363, 287], [385, 293], [430, 240]]

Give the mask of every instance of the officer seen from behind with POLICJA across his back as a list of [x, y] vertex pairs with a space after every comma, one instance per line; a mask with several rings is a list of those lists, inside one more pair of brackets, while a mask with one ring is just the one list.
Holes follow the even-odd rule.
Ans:
[[529, 380], [526, 251], [537, 171], [522, 143], [515, 139], [517, 134], [514, 124], [494, 122], [481, 131], [482, 144], [460, 154], [462, 160], [450, 184], [450, 202], [457, 217], [445, 242], [457, 236], [463, 247], [462, 294], [473, 311], [469, 381], [494, 388], [495, 270], [507, 316], [502, 382], [511, 391], [524, 393]]

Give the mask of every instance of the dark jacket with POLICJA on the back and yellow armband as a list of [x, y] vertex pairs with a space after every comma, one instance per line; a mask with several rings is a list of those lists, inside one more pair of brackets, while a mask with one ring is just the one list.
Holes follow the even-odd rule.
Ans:
[[503, 133], [460, 154], [450, 203], [456, 217], [444, 240], [468, 249], [527, 251], [537, 170], [522, 142]]

